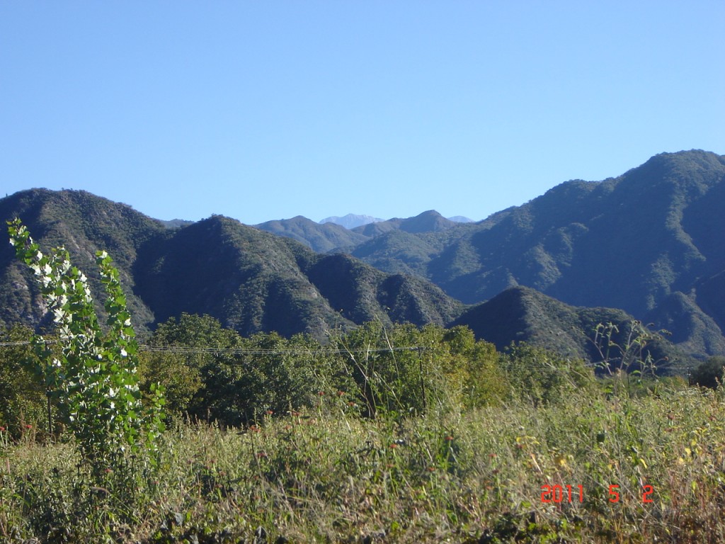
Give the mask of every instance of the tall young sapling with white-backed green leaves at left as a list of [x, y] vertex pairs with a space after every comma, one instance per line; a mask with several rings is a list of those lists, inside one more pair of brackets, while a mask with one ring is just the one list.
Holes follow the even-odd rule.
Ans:
[[43, 255], [17, 218], [8, 222], [8, 232], [17, 257], [33, 270], [57, 326], [59, 353], [42, 336], [34, 336], [32, 344], [38, 371], [83, 460], [100, 476], [123, 463], [127, 450], [154, 450], [154, 441], [164, 429], [163, 392], [154, 387], [149, 403], [141, 402], [136, 333], [111, 257], [105, 251], [96, 252], [107, 292], [108, 330], [104, 333], [86, 276], [71, 265], [65, 248]]

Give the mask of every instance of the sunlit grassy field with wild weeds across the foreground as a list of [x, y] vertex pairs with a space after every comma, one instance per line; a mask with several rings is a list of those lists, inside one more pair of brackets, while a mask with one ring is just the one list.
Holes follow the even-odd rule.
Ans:
[[0, 432], [0, 540], [725, 542], [722, 389], [405, 419], [344, 406], [244, 429], [180, 422], [159, 469], [130, 459], [101, 482], [72, 444]]

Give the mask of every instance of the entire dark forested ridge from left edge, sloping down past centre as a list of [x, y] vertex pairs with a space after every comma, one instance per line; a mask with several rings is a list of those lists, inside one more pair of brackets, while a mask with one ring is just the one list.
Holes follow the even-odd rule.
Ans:
[[[170, 229], [85, 191], [45, 189], [0, 200], [0, 216], [20, 217], [44, 250], [65, 245], [98, 301], [104, 299], [94, 253], [107, 250], [141, 329], [187, 312], [210, 314], [242, 334], [323, 337], [332, 327], [371, 320], [443, 325], [463, 310], [423, 279], [384, 273], [346, 255], [320, 255], [221, 216]], [[0, 319], [39, 323], [46, 308], [9, 244], [0, 252], [0, 276]]]

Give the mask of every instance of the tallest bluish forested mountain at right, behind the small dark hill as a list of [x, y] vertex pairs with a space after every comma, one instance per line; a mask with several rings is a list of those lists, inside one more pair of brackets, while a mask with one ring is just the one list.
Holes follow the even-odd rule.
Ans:
[[671, 329], [690, 350], [724, 353], [725, 157], [717, 154], [659, 154], [475, 225], [391, 230], [351, 253], [469, 304], [525, 285], [573, 305], [622, 308]]

